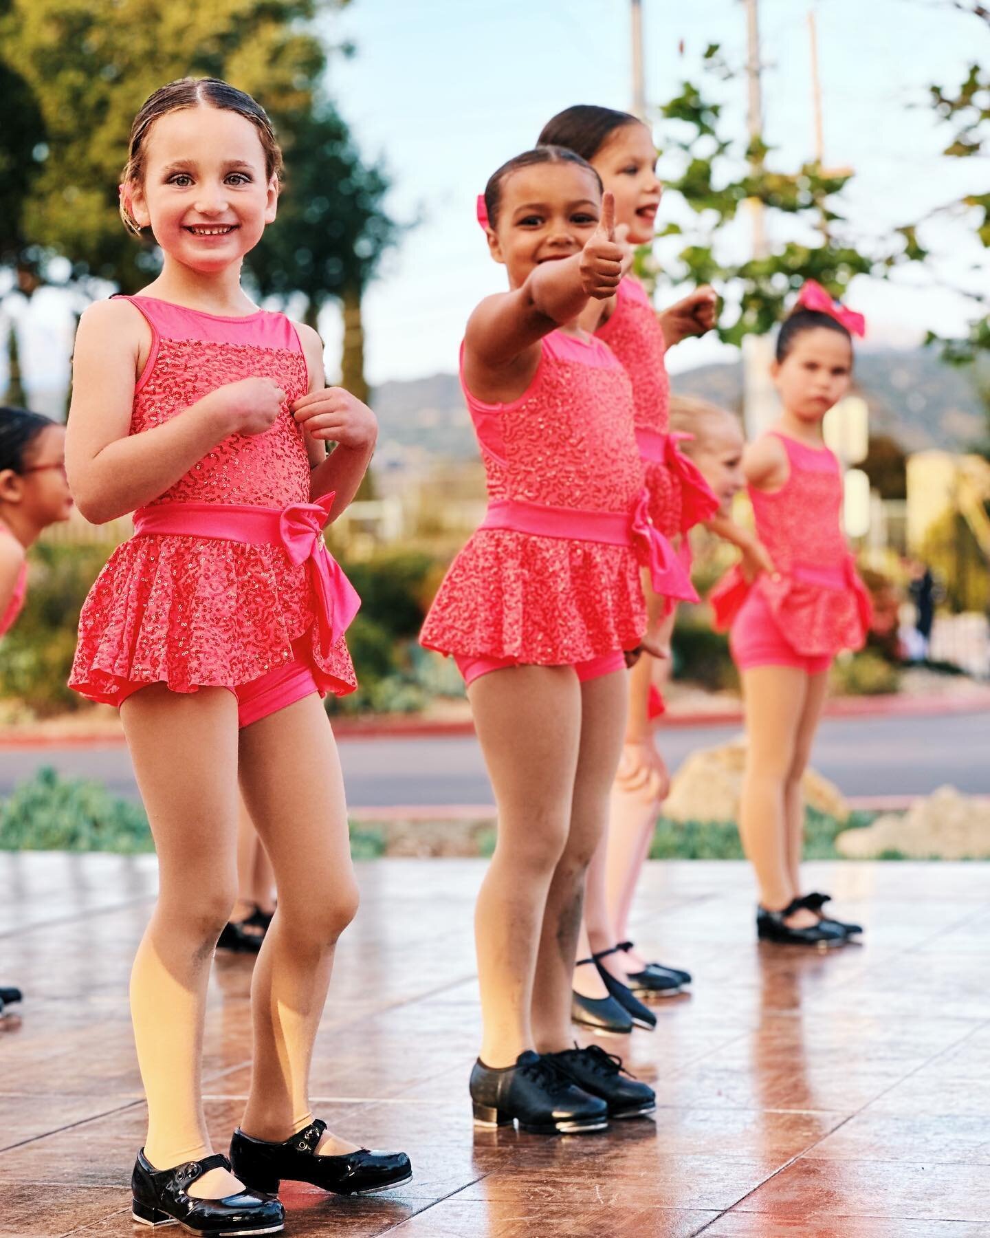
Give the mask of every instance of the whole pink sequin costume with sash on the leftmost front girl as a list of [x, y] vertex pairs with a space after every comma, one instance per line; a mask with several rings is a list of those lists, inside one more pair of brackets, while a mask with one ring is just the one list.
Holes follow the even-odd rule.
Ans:
[[79, 617], [69, 686], [120, 704], [148, 683], [225, 687], [240, 724], [319, 691], [356, 687], [343, 636], [358, 598], [328, 555], [332, 495], [309, 501], [309, 461], [288, 405], [306, 358], [281, 313], [240, 318], [127, 297], [151, 327], [130, 433], [217, 387], [273, 379], [286, 406], [262, 435], [231, 435], [153, 503], [103, 568]]

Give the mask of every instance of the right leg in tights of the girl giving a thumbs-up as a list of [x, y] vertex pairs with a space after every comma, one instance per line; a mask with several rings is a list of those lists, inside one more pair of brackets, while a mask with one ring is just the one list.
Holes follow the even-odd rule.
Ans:
[[[589, 680], [580, 688], [580, 749], [570, 828], [551, 881], [536, 963], [532, 1026], [541, 1054], [558, 1052], [573, 1044], [570, 993], [584, 881], [608, 826], [609, 790], [622, 748], [626, 687], [625, 672], [616, 671]], [[604, 903], [604, 889], [600, 893]]]

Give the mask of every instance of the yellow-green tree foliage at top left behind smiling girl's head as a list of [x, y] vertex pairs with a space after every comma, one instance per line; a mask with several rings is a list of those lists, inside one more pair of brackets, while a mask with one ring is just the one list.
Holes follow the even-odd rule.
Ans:
[[[9, 0], [0, 11], [0, 62], [27, 89], [14, 128], [22, 147], [43, 131], [43, 144], [32, 141], [31, 157], [22, 150], [14, 170], [15, 182], [24, 177], [24, 207], [11, 215], [20, 219], [15, 260], [43, 269], [59, 255], [75, 279], [100, 276], [124, 291], [146, 282], [153, 249], [136, 245], [118, 218], [135, 113], [163, 82], [215, 76], [256, 94], [291, 130], [325, 69], [304, 25], [314, 9], [316, 0]], [[0, 189], [11, 192], [6, 182]]]

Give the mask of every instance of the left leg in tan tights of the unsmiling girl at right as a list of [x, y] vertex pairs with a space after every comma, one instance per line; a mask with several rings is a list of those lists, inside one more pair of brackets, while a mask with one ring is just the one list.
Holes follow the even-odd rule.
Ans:
[[798, 893], [787, 865], [785, 785], [794, 759], [808, 693], [808, 676], [792, 666], [742, 672], [746, 707], [746, 773], [739, 833], [756, 872], [760, 903], [780, 911]]

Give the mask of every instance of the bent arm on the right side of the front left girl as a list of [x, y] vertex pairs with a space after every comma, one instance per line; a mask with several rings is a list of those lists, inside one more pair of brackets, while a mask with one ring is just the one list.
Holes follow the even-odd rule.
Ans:
[[[309, 463], [309, 498], [335, 493], [329, 521], [337, 520], [351, 503], [368, 472], [377, 439], [377, 421], [368, 405], [343, 387], [328, 387], [323, 373], [323, 342], [312, 327], [297, 324], [309, 390], [292, 405], [292, 413], [306, 435]], [[337, 446], [327, 456], [327, 442]]]

